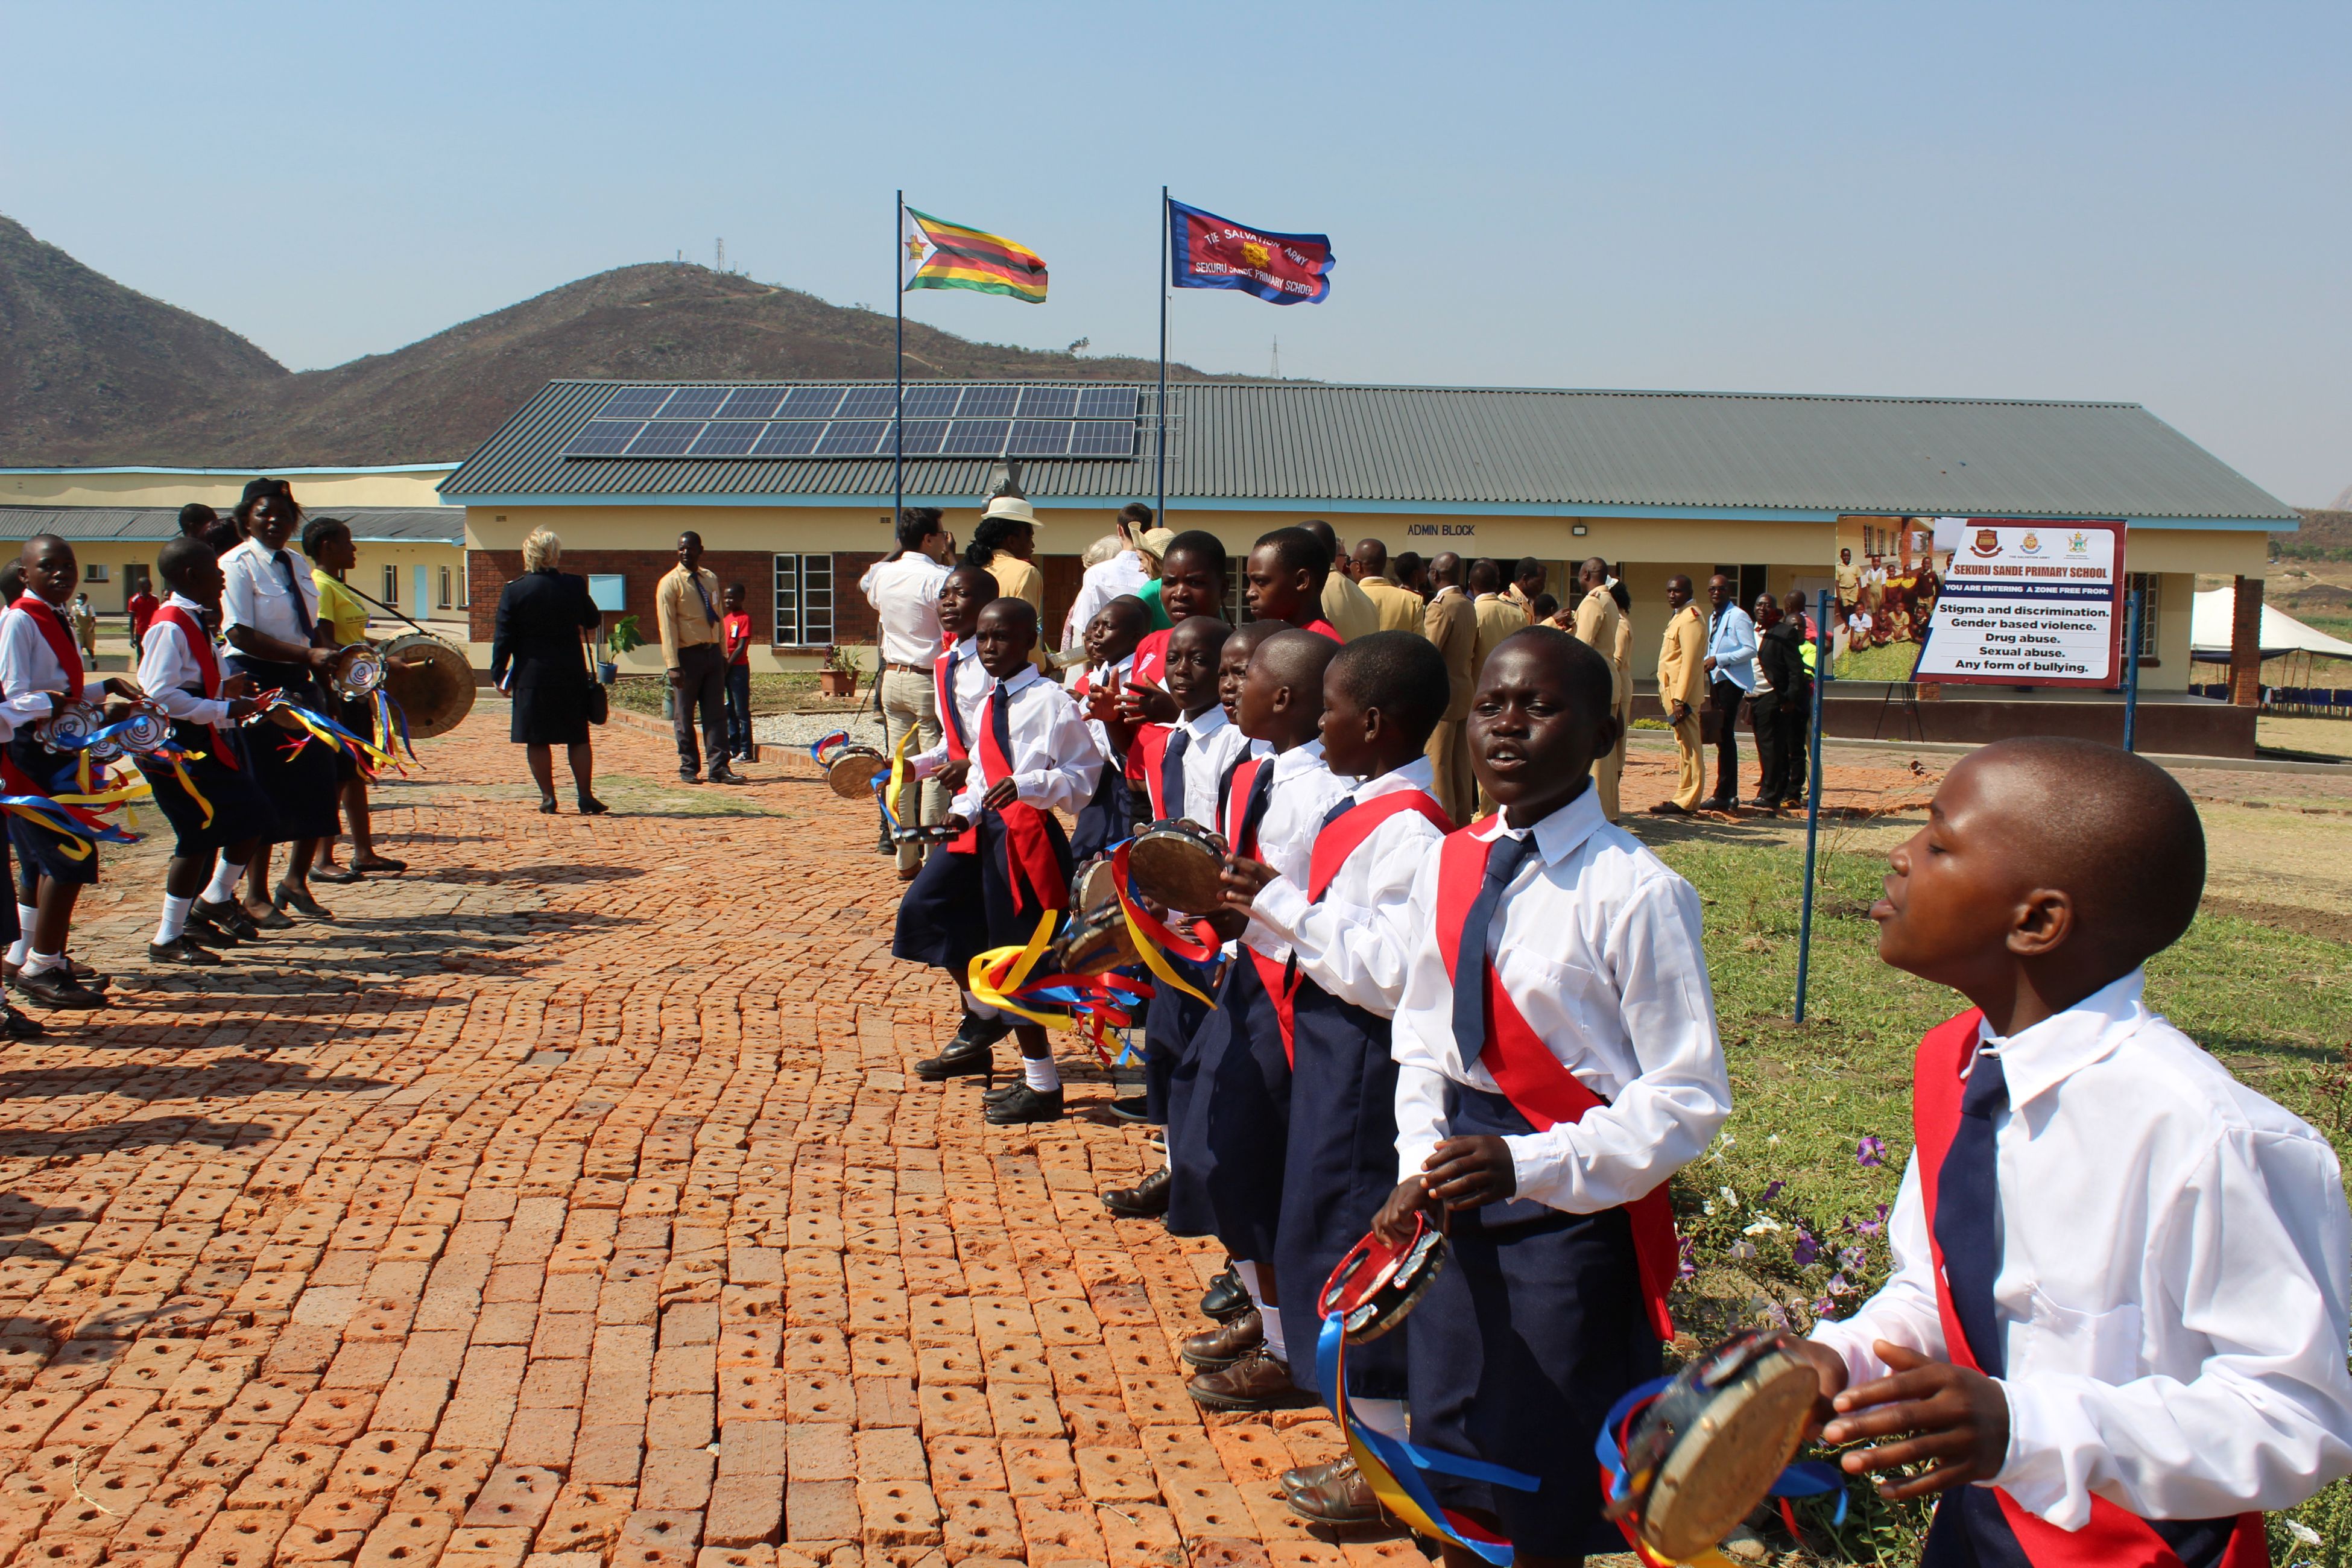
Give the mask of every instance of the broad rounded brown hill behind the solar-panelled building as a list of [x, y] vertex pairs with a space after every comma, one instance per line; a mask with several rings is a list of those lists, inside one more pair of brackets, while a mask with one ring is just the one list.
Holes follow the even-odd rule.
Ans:
[[[174, 386], [174, 395], [153, 395], [106, 421], [35, 423], [31, 400], [19, 404], [0, 395], [0, 463], [296, 468], [454, 461], [557, 376], [797, 381], [891, 374], [891, 317], [668, 261], [569, 282], [388, 355], [292, 374], [221, 327], [120, 289], [19, 226], [0, 223], [54, 259], [49, 270], [61, 261], [122, 296], [111, 313], [85, 310], [82, 317], [94, 324], [80, 339], [49, 327], [54, 310], [28, 315], [24, 331], [35, 353], [56, 357], [52, 343], [87, 341], [85, 360], [92, 364], [179, 367], [181, 341], [193, 343], [191, 329], [202, 329], [254, 360], [230, 374], [219, 355], [191, 353], [193, 374]], [[0, 247], [0, 308], [14, 270], [14, 252]], [[179, 336], [167, 336], [167, 329]], [[9, 357], [16, 355], [16, 331], [9, 322]], [[906, 324], [906, 367], [910, 378], [953, 381], [1134, 381], [1157, 374], [1152, 360], [974, 343], [917, 322]], [[1181, 364], [1171, 364], [1169, 374], [1202, 378]], [[115, 371], [115, 378], [122, 374]], [[78, 397], [78, 383], [59, 388], [56, 376], [49, 381], [49, 397]]]

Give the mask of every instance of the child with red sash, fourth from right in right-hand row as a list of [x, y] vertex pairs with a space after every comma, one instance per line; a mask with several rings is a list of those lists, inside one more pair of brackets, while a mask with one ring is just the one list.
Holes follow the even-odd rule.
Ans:
[[[1315, 832], [1348, 792], [1348, 780], [1324, 766], [1315, 738], [1324, 668], [1336, 651], [1338, 644], [1324, 637], [1287, 628], [1258, 644], [1242, 682], [1242, 733], [1265, 741], [1272, 752], [1235, 769], [1225, 804], [1228, 839], [1235, 856], [1263, 860], [1294, 879], [1308, 877]], [[1185, 1354], [1202, 1368], [1188, 1392], [1214, 1410], [1296, 1401], [1272, 1281], [1291, 1107], [1284, 976], [1291, 952], [1263, 926], [1240, 936], [1240, 954], [1225, 961], [1216, 1009], [1192, 1037], [1169, 1093], [1169, 1229], [1223, 1241], [1258, 1307], [1256, 1342], [1244, 1342], [1244, 1326], [1211, 1335], [1214, 1352], [1204, 1342]]]

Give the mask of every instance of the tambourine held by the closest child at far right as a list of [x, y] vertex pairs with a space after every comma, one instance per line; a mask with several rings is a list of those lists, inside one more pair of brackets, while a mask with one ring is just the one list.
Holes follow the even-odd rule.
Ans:
[[1820, 1375], [1790, 1335], [1733, 1335], [1642, 1410], [1609, 1516], [1668, 1561], [1722, 1544], [1797, 1455], [1818, 1396]]

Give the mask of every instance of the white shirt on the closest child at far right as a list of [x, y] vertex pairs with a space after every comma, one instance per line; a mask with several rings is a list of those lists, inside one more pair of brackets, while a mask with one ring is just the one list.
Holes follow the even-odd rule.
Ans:
[[[1992, 1479], [2060, 1530], [2105, 1497], [2143, 1519], [2281, 1509], [2352, 1472], [2336, 1152], [2140, 1001], [2133, 971], [2009, 1039], [2002, 1192], [2009, 1462]], [[1919, 1159], [1889, 1222], [1896, 1272], [1813, 1340], [1853, 1382], [1872, 1340], [1945, 1359]]]

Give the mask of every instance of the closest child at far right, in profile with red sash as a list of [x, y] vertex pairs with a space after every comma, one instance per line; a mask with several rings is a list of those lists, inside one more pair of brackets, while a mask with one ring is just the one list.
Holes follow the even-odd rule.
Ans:
[[1976, 1006], [1919, 1041], [1896, 1269], [1806, 1342], [1830, 1443], [1943, 1493], [1931, 1568], [2256, 1568], [2352, 1472], [2328, 1143], [2143, 999], [2204, 830], [2154, 764], [2004, 741], [1891, 856], [1879, 957]]

